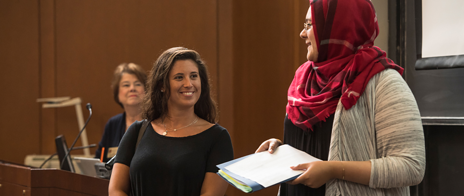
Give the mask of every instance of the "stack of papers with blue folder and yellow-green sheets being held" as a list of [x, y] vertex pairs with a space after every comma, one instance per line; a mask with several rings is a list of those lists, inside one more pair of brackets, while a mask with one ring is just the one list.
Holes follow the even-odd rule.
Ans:
[[304, 171], [290, 166], [320, 161], [290, 145], [281, 145], [274, 153], [259, 152], [217, 165], [218, 175], [246, 193], [295, 179]]

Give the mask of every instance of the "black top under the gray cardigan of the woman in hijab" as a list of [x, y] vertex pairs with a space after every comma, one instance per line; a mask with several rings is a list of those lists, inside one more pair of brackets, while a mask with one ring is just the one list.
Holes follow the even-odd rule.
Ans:
[[[303, 131], [294, 125], [287, 115], [284, 120], [284, 144], [327, 161], [333, 124], [334, 114], [330, 115], [325, 122], [322, 121], [320, 125], [314, 126], [314, 131]], [[303, 184], [282, 183], [280, 184], [280, 196], [325, 196], [325, 184], [313, 189]]]

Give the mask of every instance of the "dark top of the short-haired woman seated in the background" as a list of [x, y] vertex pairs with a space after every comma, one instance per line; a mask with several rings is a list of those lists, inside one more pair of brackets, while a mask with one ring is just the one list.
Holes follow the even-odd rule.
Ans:
[[98, 143], [97, 151], [95, 152], [95, 158], [100, 158], [102, 154], [102, 147], [105, 147], [103, 154], [103, 162], [108, 162], [110, 158], [106, 157], [108, 148], [116, 147], [126, 131], [126, 113], [117, 114], [106, 122], [105, 132], [103, 133], [102, 140]]

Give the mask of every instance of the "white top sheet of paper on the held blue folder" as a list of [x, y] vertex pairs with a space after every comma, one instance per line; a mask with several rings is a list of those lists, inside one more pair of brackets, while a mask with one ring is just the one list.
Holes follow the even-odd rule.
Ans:
[[290, 145], [281, 145], [272, 154], [267, 151], [259, 152], [225, 168], [264, 187], [269, 187], [304, 172], [303, 170], [294, 171], [290, 169], [290, 166], [313, 161], [320, 161], [320, 159]]

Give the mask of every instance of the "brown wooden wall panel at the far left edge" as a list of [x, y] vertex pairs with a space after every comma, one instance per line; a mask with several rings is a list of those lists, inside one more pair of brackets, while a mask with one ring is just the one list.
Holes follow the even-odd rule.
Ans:
[[0, 157], [39, 153], [39, 5], [0, 1]]

